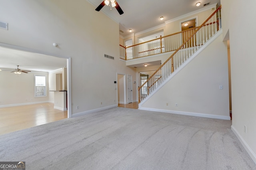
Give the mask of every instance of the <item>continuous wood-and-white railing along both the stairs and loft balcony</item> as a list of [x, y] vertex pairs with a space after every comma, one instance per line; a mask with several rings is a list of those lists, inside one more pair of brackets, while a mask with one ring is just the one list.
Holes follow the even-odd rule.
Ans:
[[[147, 79], [147, 81], [138, 87], [139, 103], [152, 93], [160, 84], [162, 84], [184, 62], [186, 62], [191, 55], [198, 51], [204, 43], [210, 40], [218, 30], [220, 30], [220, 9], [221, 6], [197, 28], [160, 37], [146, 42], [146, 44], [141, 43], [132, 45], [130, 47], [126, 47], [125, 50], [122, 51], [123, 55], [121, 56], [124, 57], [123, 59], [128, 60], [144, 57], [144, 55], [153, 55], [155, 53], [175, 50], [174, 53]], [[160, 46], [156, 45], [154, 48], [150, 48], [152, 46], [148, 43], [160, 44]]]

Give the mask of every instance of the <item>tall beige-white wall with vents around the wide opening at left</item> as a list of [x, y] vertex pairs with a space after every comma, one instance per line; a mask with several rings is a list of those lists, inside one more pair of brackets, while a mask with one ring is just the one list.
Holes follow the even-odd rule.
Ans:
[[9, 30], [0, 29], [0, 42], [71, 57], [72, 115], [116, 105], [117, 72], [136, 77], [119, 60], [118, 23], [95, 8], [86, 0], [1, 1], [0, 20]]

